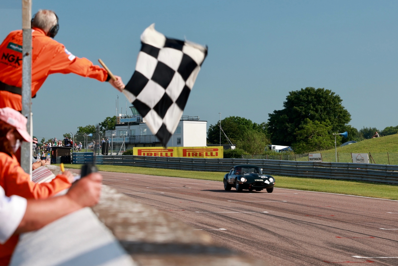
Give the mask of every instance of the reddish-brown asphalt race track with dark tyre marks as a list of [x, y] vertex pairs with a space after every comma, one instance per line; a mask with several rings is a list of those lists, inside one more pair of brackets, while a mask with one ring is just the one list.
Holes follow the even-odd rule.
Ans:
[[103, 184], [270, 265], [398, 265], [398, 201], [287, 189], [237, 193], [222, 182], [101, 174]]

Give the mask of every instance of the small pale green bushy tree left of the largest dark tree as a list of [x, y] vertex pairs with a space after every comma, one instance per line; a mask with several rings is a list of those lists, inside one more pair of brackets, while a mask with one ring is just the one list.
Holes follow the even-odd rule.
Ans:
[[242, 140], [237, 143], [237, 147], [252, 155], [253, 158], [254, 155], [262, 154], [265, 147], [270, 143], [264, 133], [252, 129], [243, 134]]

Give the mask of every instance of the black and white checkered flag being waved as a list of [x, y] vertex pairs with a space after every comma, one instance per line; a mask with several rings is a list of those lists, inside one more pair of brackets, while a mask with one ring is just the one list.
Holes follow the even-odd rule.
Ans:
[[176, 130], [207, 47], [169, 39], [155, 24], [141, 35], [135, 72], [123, 93], [166, 147]]

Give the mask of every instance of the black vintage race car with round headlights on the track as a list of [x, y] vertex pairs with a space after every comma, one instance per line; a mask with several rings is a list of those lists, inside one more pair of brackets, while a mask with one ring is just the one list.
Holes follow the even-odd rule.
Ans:
[[224, 176], [224, 189], [231, 190], [235, 187], [236, 192], [241, 192], [244, 189], [261, 191], [265, 188], [268, 193], [272, 193], [275, 178], [263, 174], [261, 170], [258, 166], [250, 164], [231, 167], [230, 172]]

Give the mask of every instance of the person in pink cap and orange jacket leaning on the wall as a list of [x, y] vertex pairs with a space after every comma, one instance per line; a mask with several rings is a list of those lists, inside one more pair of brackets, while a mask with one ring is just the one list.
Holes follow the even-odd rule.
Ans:
[[[32, 141], [26, 131], [27, 119], [12, 108], [0, 108], [0, 186], [5, 196], [20, 196], [26, 199], [45, 199], [54, 196], [61, 190], [69, 188], [73, 181], [70, 172], [56, 176], [49, 183], [35, 184], [30, 181], [17, 161], [14, 153], [21, 141]], [[11, 254], [18, 243], [18, 235], [14, 235], [4, 244], [0, 244], [0, 265]]]

